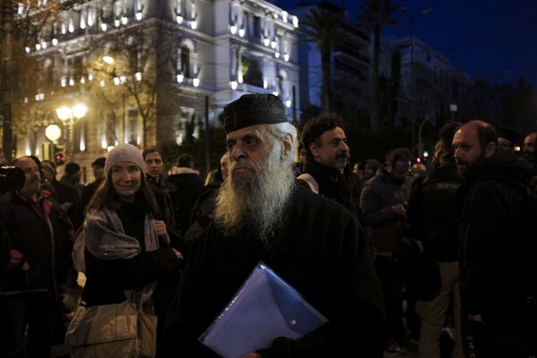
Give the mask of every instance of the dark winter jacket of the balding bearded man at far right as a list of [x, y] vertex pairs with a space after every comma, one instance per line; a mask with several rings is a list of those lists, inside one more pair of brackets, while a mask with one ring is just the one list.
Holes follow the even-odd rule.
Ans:
[[[537, 244], [524, 183], [532, 167], [500, 152], [459, 188], [461, 299], [465, 311], [514, 330], [535, 330]], [[533, 297], [533, 299], [532, 299]]]

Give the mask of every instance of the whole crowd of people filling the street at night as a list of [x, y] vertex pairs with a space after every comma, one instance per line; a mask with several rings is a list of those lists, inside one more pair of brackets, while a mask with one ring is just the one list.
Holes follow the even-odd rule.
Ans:
[[64, 294], [81, 285], [86, 307], [150, 307], [155, 356], [217, 357], [199, 338], [260, 262], [328, 322], [244, 358], [537, 354], [537, 132], [519, 143], [449, 123], [427, 165], [406, 148], [352, 163], [336, 113], [300, 133], [274, 95], [224, 113], [226, 150], [206, 180], [189, 153], [168, 171], [158, 146], [128, 143], [95, 158], [88, 184], [74, 162], [57, 180], [52, 161], [4, 161], [24, 181], [0, 187], [0, 356], [50, 357], [72, 317]]

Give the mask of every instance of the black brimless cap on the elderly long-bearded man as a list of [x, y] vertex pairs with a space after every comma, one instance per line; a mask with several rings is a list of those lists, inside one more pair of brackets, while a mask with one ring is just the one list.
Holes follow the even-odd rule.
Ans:
[[241, 96], [224, 107], [226, 133], [257, 124], [289, 122], [282, 100], [273, 94], [253, 93]]

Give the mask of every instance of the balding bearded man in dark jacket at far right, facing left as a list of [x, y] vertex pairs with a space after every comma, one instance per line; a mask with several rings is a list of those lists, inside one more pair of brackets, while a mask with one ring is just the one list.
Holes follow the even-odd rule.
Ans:
[[533, 167], [500, 150], [494, 127], [470, 121], [453, 138], [465, 182], [460, 217], [461, 304], [477, 358], [537, 355], [537, 241], [524, 184]]

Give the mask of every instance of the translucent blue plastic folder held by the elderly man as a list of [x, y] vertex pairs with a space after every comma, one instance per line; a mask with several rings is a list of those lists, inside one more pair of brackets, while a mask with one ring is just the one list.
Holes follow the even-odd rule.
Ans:
[[198, 338], [224, 358], [267, 348], [277, 337], [297, 339], [328, 320], [262, 261]]

